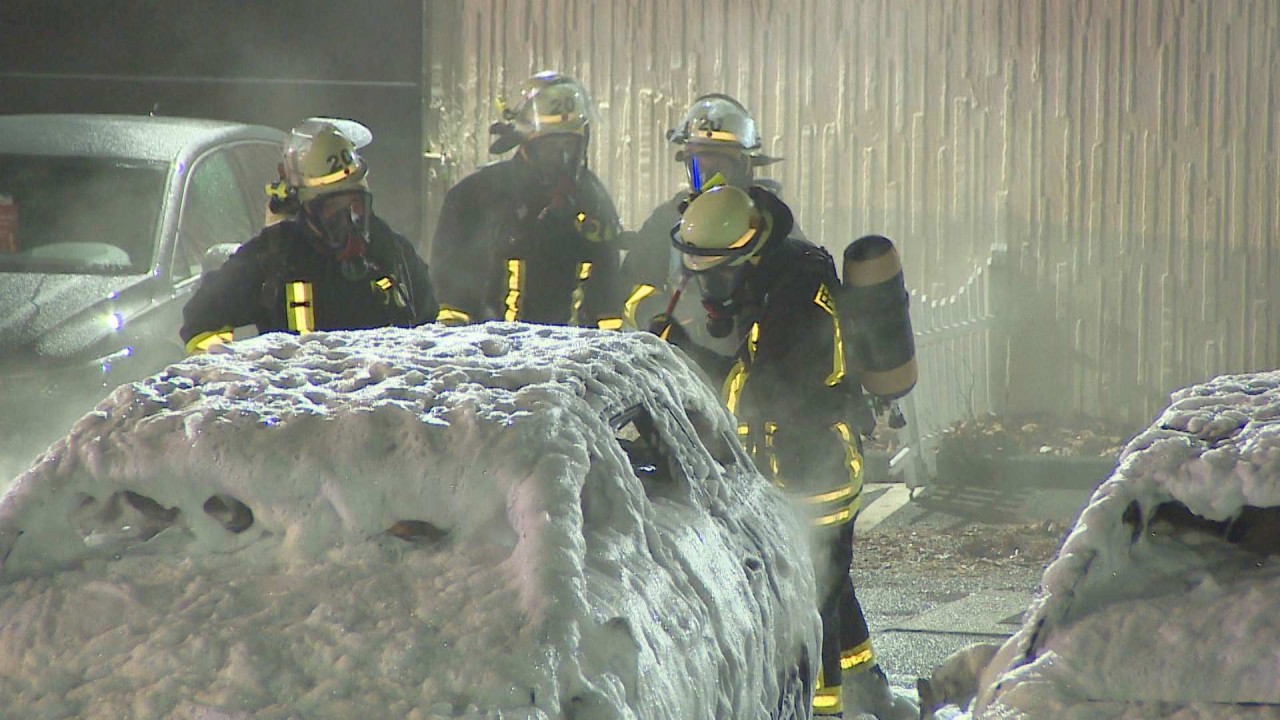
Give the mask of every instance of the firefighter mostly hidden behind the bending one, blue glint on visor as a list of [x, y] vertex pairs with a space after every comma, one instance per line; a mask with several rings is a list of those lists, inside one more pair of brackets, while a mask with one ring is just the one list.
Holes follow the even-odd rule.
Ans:
[[[756, 178], [755, 169], [771, 165], [781, 158], [762, 152], [760, 133], [755, 118], [741, 102], [719, 92], [694, 100], [680, 126], [667, 131], [667, 140], [677, 146], [676, 161], [684, 163], [687, 187], [673, 195], [649, 214], [639, 231], [622, 236], [626, 256], [622, 277], [630, 287], [653, 288], [644, 293], [636, 307], [635, 322], [662, 311], [662, 302], [680, 278], [680, 258], [671, 247], [671, 228], [680, 222], [681, 211], [704, 184], [731, 184], [749, 188], [763, 187], [778, 195], [780, 186], [768, 178]], [[792, 231], [800, 234], [799, 228]]]

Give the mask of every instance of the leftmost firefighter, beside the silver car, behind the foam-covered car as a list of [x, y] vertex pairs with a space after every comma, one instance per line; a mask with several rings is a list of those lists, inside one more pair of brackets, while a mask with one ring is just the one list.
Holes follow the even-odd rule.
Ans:
[[183, 307], [187, 352], [252, 332], [413, 327], [435, 319], [426, 265], [374, 214], [369, 165], [335, 124], [307, 120], [284, 149], [293, 208], [207, 273]]

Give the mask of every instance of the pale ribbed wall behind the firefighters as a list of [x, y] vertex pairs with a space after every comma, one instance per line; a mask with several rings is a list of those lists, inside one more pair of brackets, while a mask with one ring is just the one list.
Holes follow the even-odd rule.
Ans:
[[940, 297], [1009, 246], [1011, 413], [1144, 423], [1277, 361], [1280, 3], [426, 0], [429, 145], [489, 161], [539, 69], [595, 95], [593, 167], [635, 225], [681, 181], [664, 131], [723, 91], [835, 252], [882, 233]]

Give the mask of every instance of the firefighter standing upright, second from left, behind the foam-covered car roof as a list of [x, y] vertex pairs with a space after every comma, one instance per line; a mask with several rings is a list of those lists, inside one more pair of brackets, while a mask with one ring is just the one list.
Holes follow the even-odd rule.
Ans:
[[586, 167], [591, 101], [576, 79], [525, 81], [489, 151], [515, 149], [449, 188], [431, 240], [440, 322], [522, 320], [617, 329], [618, 215]]

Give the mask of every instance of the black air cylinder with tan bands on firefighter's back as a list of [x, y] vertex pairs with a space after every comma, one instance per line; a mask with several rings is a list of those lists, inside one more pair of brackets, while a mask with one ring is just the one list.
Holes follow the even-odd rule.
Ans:
[[915, 387], [915, 336], [902, 261], [887, 237], [865, 236], [845, 249], [844, 299], [850, 337], [845, 355], [867, 392], [883, 400]]

